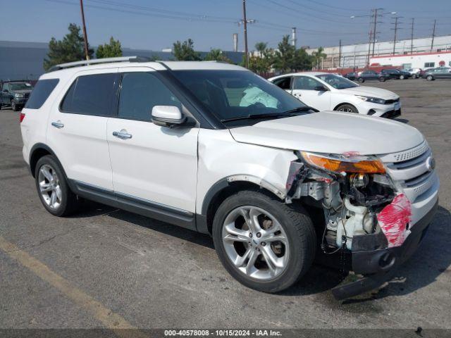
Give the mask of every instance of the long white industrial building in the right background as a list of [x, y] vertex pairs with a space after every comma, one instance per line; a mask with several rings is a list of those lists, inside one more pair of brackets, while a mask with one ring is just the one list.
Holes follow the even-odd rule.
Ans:
[[[307, 53], [311, 54], [317, 50], [307, 49]], [[394, 53], [393, 50], [395, 50]], [[415, 68], [430, 68], [425, 64], [434, 63], [434, 66], [438, 67], [440, 61], [449, 65], [448, 58], [450, 56], [445, 52], [451, 52], [451, 35], [434, 37], [434, 39], [425, 37], [398, 40], [395, 48], [393, 48], [393, 41], [376, 41], [374, 46], [368, 43], [351, 44], [341, 46], [341, 48], [340, 46], [331, 46], [324, 48], [327, 57], [321, 61], [319, 68], [364, 68], [368, 63], [368, 55], [370, 55], [370, 65], [403, 66], [411, 64]], [[405, 56], [405, 58], [399, 56]]]

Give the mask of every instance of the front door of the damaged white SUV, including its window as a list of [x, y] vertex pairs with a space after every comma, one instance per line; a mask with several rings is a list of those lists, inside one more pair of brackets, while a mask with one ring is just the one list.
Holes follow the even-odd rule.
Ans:
[[152, 68], [122, 68], [119, 73], [118, 116], [109, 119], [107, 128], [115, 193], [150, 211], [194, 213], [199, 128], [154, 125], [154, 106], [189, 112]]

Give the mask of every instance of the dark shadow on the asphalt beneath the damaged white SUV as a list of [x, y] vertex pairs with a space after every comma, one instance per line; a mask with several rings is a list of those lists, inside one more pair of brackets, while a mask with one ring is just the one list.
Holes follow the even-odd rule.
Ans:
[[[146, 227], [169, 236], [177, 237], [194, 244], [214, 249], [213, 240], [209, 235], [200, 234], [192, 230], [163, 223], [158, 220], [151, 220], [141, 215], [129, 213], [128, 211], [110, 208], [102, 204], [86, 201], [82, 213], [77, 218], [92, 217], [95, 215], [108, 215], [109, 217], [123, 220], [128, 223]], [[374, 299], [382, 299], [386, 296], [397, 296], [410, 294], [417, 289], [428, 286], [435, 282], [442, 273], [450, 274], [451, 265], [451, 213], [442, 206], [438, 207], [438, 211], [431, 223], [423, 242], [414, 255], [405, 262], [396, 272], [395, 278], [388, 282], [385, 287], [376, 291], [362, 294], [354, 299], [347, 299], [343, 303], [361, 303], [372, 301]], [[331, 256], [337, 262], [343, 262], [339, 253]], [[320, 294], [328, 292], [333, 287], [343, 282], [355, 280], [354, 275], [349, 275], [345, 265], [340, 267], [340, 263], [336, 264], [336, 268], [330, 268], [321, 264], [320, 260], [316, 260], [310, 270], [302, 277], [302, 279], [289, 289], [279, 292], [285, 296], [303, 296], [309, 294]]]

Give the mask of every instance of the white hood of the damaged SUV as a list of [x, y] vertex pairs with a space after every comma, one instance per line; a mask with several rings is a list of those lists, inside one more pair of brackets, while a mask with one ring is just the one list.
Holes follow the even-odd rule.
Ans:
[[337, 111], [264, 121], [230, 133], [237, 142], [327, 154], [389, 154], [424, 141], [421, 132], [404, 123]]

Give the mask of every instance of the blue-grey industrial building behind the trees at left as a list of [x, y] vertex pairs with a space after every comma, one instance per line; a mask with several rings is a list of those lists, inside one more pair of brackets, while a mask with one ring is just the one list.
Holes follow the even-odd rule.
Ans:
[[[94, 47], [95, 49], [95, 47]], [[43, 42], [0, 41], [0, 80], [36, 80], [44, 73], [44, 58], [49, 44]], [[152, 51], [148, 49], [122, 49], [123, 56], [147, 56], [159, 60], [174, 58], [171, 50]], [[207, 51], [199, 52], [203, 58]], [[223, 51], [233, 63], [242, 61], [240, 51]]]

